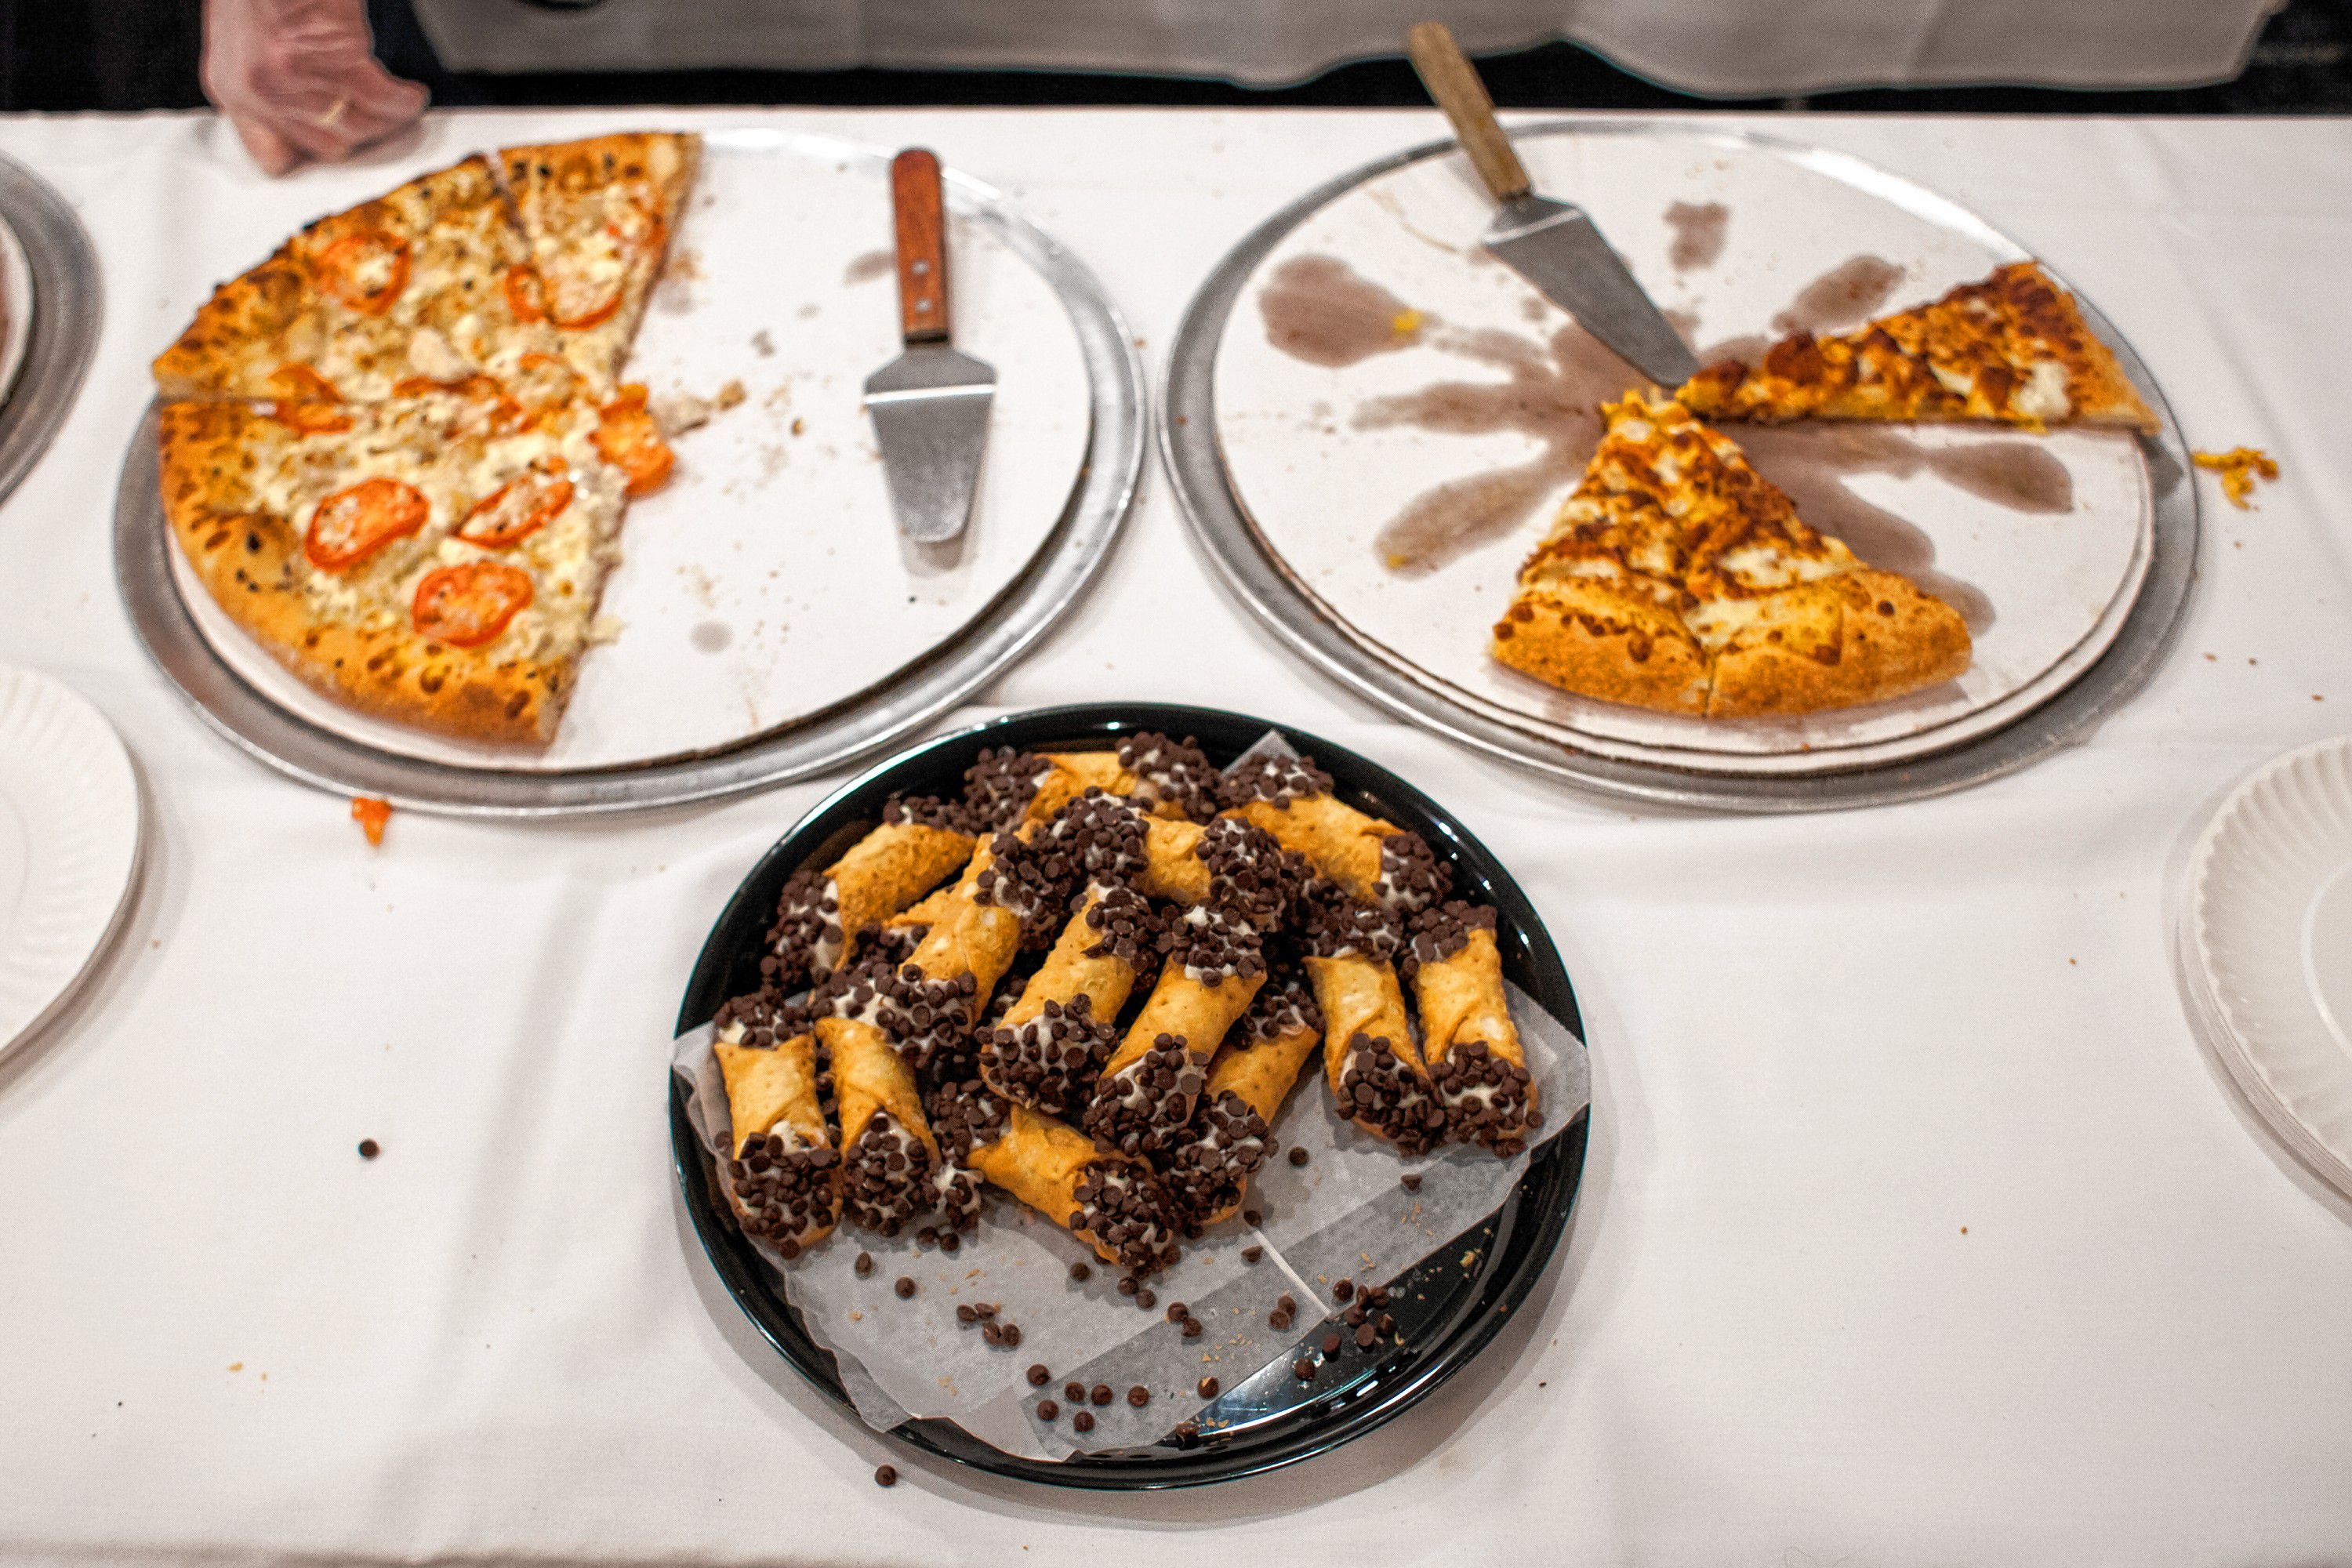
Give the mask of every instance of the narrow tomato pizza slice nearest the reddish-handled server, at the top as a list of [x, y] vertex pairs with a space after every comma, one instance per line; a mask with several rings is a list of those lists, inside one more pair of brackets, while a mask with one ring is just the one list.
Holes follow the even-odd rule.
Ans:
[[529, 249], [529, 266], [513, 275], [517, 301], [597, 386], [619, 381], [699, 158], [701, 136], [682, 132], [499, 153]]

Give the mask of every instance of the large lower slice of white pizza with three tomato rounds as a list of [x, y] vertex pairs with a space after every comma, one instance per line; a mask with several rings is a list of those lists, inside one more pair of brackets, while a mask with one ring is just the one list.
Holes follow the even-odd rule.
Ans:
[[169, 402], [165, 515], [230, 618], [308, 684], [539, 745], [619, 559], [637, 421], [642, 400], [534, 407], [487, 376], [381, 404]]

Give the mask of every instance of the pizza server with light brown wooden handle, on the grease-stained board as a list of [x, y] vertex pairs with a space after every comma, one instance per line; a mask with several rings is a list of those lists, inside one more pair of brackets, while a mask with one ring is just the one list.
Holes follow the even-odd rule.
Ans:
[[1534, 193], [1526, 165], [1494, 120], [1486, 85], [1463, 59], [1446, 24], [1416, 26], [1406, 35], [1406, 52], [1421, 85], [1454, 122], [1470, 167], [1501, 202], [1482, 244], [1658, 386], [1675, 388], [1696, 376], [1698, 357], [1609, 249], [1590, 214], [1573, 202]]

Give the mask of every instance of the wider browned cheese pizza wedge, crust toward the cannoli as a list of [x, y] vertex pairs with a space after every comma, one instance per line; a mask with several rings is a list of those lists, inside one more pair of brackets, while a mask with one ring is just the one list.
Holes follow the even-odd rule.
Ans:
[[1969, 628], [1865, 567], [1679, 402], [1606, 404], [1592, 463], [1519, 569], [1494, 656], [1661, 712], [1752, 717], [1875, 703], [1969, 668]]

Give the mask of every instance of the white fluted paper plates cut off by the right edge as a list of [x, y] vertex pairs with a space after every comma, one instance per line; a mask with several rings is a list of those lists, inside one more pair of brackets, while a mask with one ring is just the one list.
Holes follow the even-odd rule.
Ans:
[[2246, 1100], [2352, 1194], [2352, 736], [2265, 764], [2185, 870], [2180, 985]]

